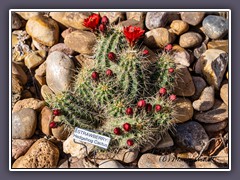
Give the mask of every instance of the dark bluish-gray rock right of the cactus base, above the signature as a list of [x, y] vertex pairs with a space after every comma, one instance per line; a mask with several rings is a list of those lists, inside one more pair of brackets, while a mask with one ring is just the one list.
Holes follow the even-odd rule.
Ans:
[[175, 128], [174, 140], [179, 146], [196, 151], [201, 151], [204, 147], [204, 150], [208, 148], [209, 137], [198, 122], [189, 121], [178, 124]]

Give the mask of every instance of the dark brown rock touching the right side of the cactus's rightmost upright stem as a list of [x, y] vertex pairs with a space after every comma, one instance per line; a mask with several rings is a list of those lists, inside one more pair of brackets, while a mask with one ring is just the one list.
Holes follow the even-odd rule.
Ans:
[[178, 74], [174, 84], [174, 94], [177, 96], [192, 96], [195, 93], [192, 76], [185, 66], [178, 65], [176, 67]]

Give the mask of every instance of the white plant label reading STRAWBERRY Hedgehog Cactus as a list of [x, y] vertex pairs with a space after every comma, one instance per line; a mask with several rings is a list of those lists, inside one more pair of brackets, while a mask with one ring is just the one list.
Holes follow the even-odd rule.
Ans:
[[86, 142], [101, 148], [107, 149], [111, 138], [103, 136], [85, 129], [76, 127], [73, 134], [73, 139], [77, 142]]

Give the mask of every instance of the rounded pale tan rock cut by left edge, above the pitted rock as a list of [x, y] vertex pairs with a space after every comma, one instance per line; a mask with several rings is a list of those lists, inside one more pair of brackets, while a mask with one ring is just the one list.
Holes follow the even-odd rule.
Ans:
[[12, 138], [31, 138], [36, 130], [37, 115], [33, 109], [26, 108], [12, 113]]

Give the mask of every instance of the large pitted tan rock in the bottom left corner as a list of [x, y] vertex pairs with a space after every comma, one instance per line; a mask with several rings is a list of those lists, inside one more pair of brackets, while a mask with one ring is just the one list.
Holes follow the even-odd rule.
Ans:
[[24, 156], [13, 163], [13, 168], [56, 168], [59, 159], [58, 148], [41, 138], [37, 140]]

